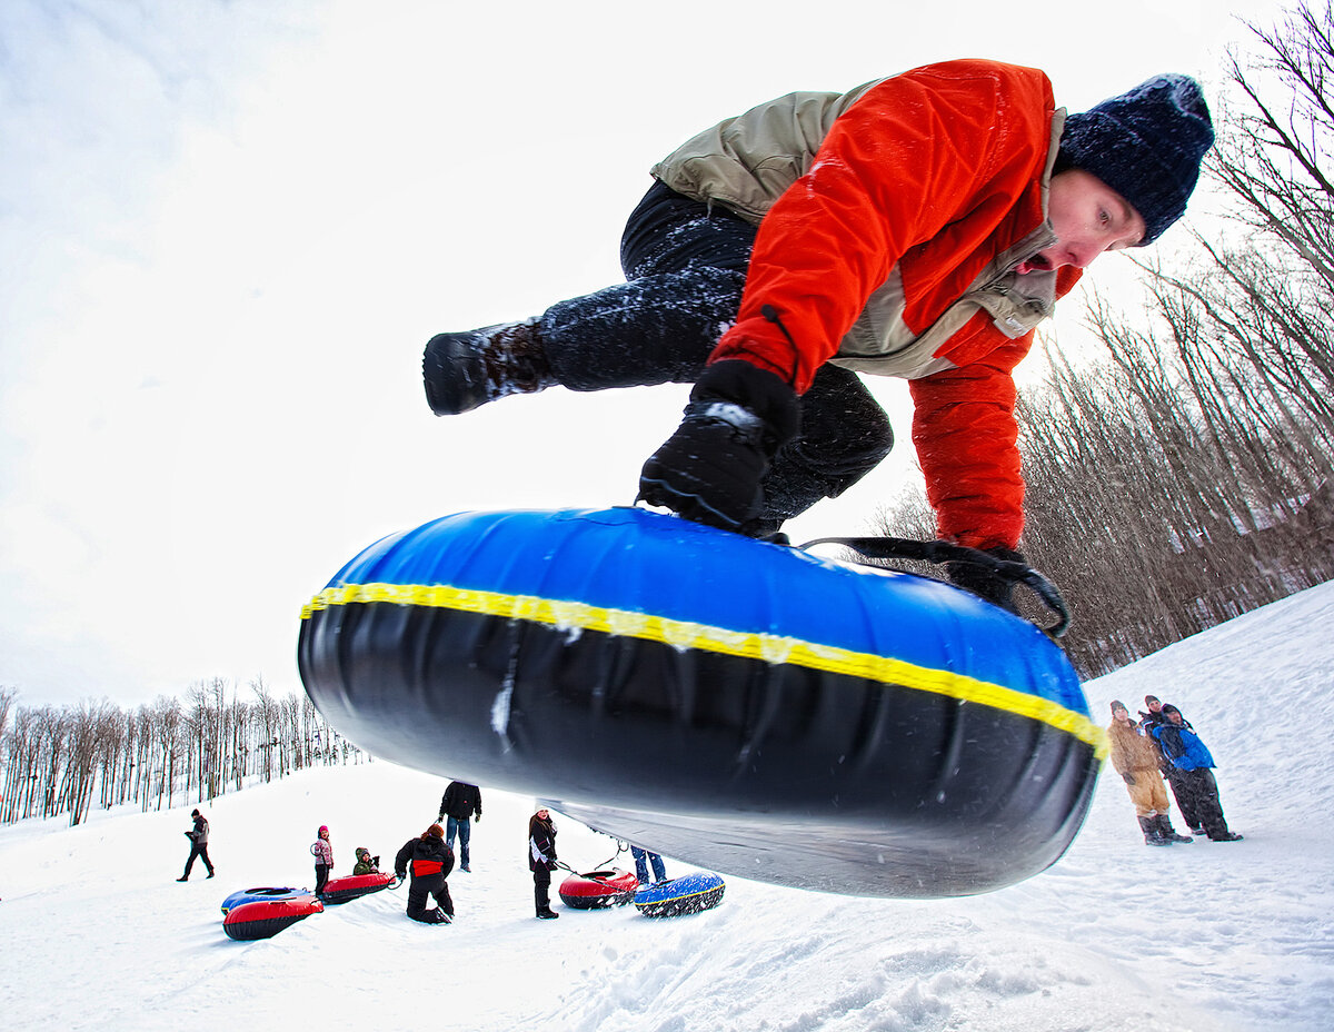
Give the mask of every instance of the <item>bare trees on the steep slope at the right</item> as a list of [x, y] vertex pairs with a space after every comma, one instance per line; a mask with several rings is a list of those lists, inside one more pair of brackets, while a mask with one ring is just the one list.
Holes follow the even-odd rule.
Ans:
[[[1334, 13], [1247, 28], [1197, 194], [1225, 199], [1217, 238], [1141, 262], [1133, 316], [1095, 298], [1102, 356], [1047, 339], [1019, 397], [1021, 547], [1071, 603], [1086, 677], [1334, 578]], [[880, 522], [935, 534], [915, 493]]]

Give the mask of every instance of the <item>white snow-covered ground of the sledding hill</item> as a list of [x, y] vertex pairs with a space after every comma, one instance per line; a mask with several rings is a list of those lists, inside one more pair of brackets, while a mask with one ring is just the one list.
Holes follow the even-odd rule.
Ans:
[[[730, 878], [706, 913], [634, 908], [538, 921], [531, 798], [484, 793], [458, 920], [406, 890], [233, 943], [219, 904], [309, 885], [332, 829], [384, 864], [444, 782], [384, 762], [304, 773], [205, 806], [219, 876], [177, 884], [192, 804], [0, 829], [0, 1015], [8, 1028], [444, 1028], [754, 1032], [1327, 1032], [1334, 1028], [1334, 585], [1247, 614], [1086, 686], [1095, 718], [1175, 702], [1219, 762], [1246, 840], [1142, 844], [1121, 780], [1050, 870], [988, 896], [859, 900]], [[1181, 818], [1175, 814], [1178, 828]], [[560, 820], [560, 854], [616, 844]], [[628, 866], [628, 854], [616, 861]], [[667, 858], [668, 876], [686, 868]], [[559, 878], [558, 878], [559, 884]]]

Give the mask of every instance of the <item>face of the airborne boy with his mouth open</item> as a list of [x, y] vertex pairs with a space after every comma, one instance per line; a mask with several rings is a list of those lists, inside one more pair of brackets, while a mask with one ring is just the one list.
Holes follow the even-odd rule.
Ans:
[[1106, 251], [1134, 247], [1147, 231], [1139, 212], [1121, 194], [1082, 168], [1067, 168], [1051, 178], [1047, 218], [1057, 242], [1021, 262], [1018, 272], [1087, 268]]

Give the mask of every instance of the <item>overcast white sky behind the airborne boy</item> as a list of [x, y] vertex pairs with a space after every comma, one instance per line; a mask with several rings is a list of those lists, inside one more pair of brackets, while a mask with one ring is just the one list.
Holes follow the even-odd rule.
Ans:
[[[297, 690], [301, 603], [383, 534], [628, 503], [684, 389], [436, 419], [420, 351], [620, 279], [648, 167], [720, 117], [958, 56], [1041, 67], [1079, 111], [1217, 83], [1227, 11], [1278, 9], [7, 0], [0, 686]], [[895, 458], [794, 537], [866, 531], [914, 475], [902, 384], [876, 393]]]

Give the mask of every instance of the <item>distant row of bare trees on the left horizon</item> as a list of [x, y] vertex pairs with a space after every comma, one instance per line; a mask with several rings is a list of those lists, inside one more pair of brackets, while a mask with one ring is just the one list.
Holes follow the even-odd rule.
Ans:
[[123, 804], [160, 810], [316, 765], [368, 761], [301, 694], [277, 697], [263, 678], [251, 700], [221, 678], [184, 700], [159, 697], [123, 710], [112, 702], [17, 706], [0, 688], [0, 824]]

